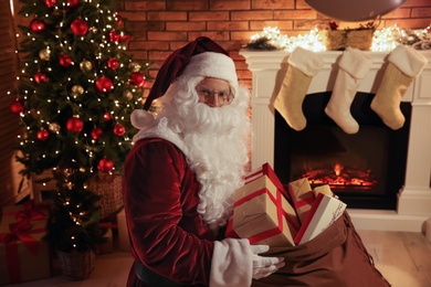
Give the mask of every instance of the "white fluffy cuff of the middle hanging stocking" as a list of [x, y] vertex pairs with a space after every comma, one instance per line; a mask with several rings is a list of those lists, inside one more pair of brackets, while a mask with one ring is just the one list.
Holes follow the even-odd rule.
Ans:
[[362, 51], [347, 47], [339, 60], [339, 67], [355, 78], [364, 78], [370, 70], [372, 61]]

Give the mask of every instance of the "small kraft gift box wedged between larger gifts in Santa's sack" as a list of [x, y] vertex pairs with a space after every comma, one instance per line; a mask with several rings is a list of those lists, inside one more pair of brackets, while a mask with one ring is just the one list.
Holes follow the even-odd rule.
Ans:
[[293, 206], [299, 222], [303, 223], [315, 200], [312, 187], [306, 178], [292, 181], [287, 184], [287, 187]]

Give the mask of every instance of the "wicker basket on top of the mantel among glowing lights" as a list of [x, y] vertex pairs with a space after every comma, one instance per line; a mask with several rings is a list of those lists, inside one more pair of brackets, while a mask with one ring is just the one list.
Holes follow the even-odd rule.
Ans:
[[375, 29], [329, 30], [326, 34], [326, 50], [343, 51], [346, 47], [370, 50]]

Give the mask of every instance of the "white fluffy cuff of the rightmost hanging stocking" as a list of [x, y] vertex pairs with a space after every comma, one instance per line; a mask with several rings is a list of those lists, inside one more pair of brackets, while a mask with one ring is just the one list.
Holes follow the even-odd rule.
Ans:
[[388, 60], [410, 77], [419, 75], [428, 62], [418, 51], [406, 45], [398, 45]]

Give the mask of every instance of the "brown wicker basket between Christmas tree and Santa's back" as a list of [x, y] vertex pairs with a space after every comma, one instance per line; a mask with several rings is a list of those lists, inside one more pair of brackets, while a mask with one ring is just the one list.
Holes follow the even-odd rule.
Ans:
[[98, 172], [90, 181], [88, 189], [101, 196], [101, 219], [115, 214], [123, 208], [123, 178]]

